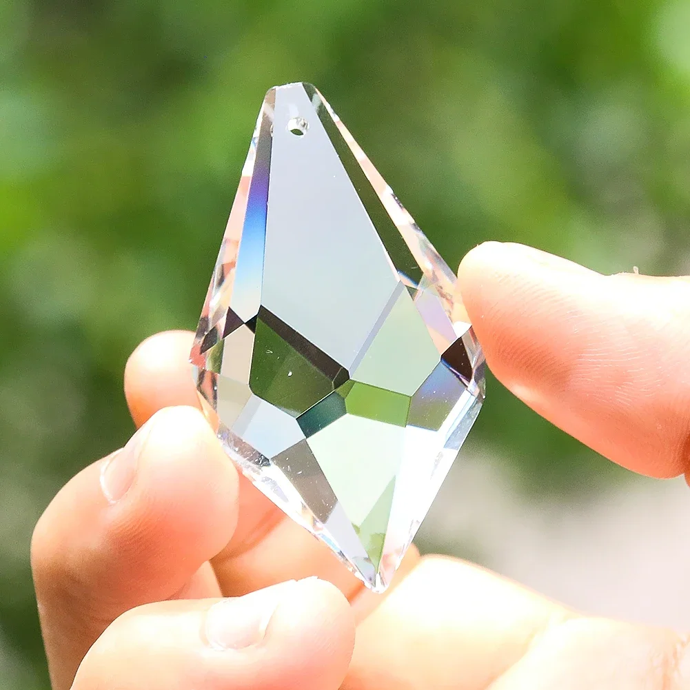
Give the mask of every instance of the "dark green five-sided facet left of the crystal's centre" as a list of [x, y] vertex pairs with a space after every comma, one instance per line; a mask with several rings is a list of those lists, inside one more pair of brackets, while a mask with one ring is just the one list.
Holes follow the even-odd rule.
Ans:
[[333, 391], [333, 382], [270, 328], [261, 315], [254, 353], [249, 375], [252, 392], [293, 417]]

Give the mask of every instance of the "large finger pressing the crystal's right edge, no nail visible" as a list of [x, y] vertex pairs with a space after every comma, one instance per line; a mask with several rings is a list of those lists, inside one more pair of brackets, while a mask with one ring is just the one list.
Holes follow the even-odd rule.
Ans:
[[601, 275], [488, 242], [459, 286], [496, 377], [547, 420], [628, 469], [690, 466], [690, 281]]

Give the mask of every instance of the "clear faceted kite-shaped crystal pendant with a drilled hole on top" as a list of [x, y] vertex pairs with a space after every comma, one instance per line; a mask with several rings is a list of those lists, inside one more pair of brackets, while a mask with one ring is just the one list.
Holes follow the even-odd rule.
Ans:
[[484, 398], [454, 284], [322, 95], [272, 88], [190, 361], [239, 469], [375, 591]]

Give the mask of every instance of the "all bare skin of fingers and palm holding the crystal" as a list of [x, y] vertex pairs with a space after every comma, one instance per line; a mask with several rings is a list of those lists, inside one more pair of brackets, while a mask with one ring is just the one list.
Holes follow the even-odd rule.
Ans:
[[[526, 404], [633, 471], [688, 472], [690, 279], [491, 242], [458, 286]], [[690, 688], [687, 636], [579, 615], [466, 562], [411, 550], [386, 595], [364, 591], [238, 477], [198, 411], [191, 338], [132, 354], [139, 430], [34, 531], [53, 690]]]

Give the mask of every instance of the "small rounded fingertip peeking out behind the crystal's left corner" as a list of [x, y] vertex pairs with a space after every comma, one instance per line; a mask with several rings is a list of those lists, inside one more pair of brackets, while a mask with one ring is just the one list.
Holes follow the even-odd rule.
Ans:
[[193, 339], [191, 331], [156, 333], [130, 355], [125, 366], [124, 390], [137, 426], [167, 406], [199, 407], [188, 363]]

